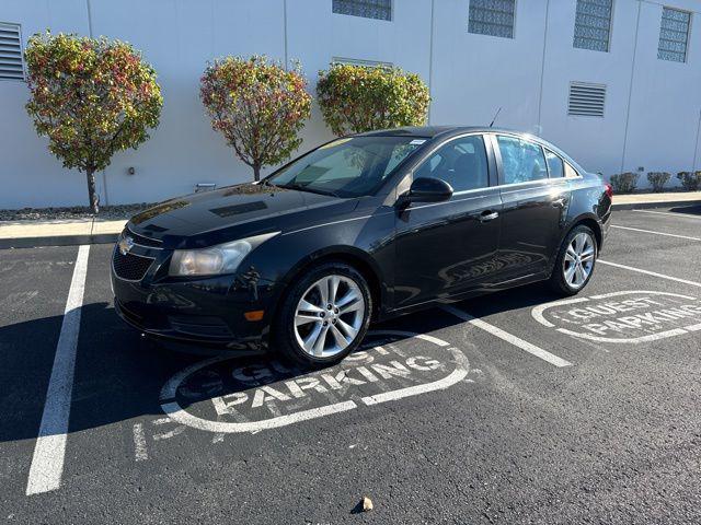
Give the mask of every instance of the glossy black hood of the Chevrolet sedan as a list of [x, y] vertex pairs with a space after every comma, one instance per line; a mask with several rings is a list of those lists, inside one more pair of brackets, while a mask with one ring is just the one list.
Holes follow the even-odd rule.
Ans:
[[133, 217], [127, 226], [165, 247], [206, 246], [272, 230], [284, 232], [297, 226], [306, 210], [349, 203], [333, 196], [240, 184], [166, 200]]

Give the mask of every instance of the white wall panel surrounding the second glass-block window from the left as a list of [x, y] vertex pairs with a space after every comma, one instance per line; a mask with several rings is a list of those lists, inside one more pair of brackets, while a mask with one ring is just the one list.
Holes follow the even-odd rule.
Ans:
[[432, 124], [489, 125], [501, 107], [495, 126], [535, 131], [545, 5], [517, 1], [514, 38], [499, 38], [468, 33], [467, 1], [435, 2]]

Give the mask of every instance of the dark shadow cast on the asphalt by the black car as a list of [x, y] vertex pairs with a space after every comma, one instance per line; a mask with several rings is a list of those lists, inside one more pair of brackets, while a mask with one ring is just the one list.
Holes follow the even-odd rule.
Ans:
[[[559, 298], [537, 284], [463, 301], [456, 303], [456, 306], [482, 317], [555, 299]], [[0, 418], [3, 420], [0, 442], [37, 436], [61, 322], [62, 316], [53, 316], [0, 328], [3, 350], [0, 357], [0, 380], [3, 384], [0, 393]], [[375, 324], [371, 330], [430, 334], [462, 323], [453, 315], [432, 308]], [[42, 335], [43, 345], [28, 342], [35, 340], [37, 335]], [[411, 336], [398, 335], [394, 340], [399, 342], [407, 337]], [[27, 353], [32, 354], [32, 359], [27, 359]], [[280, 361], [272, 353], [263, 357], [237, 357], [232, 353], [231, 359], [235, 359], [239, 370], [252, 371], [249, 381], [227, 381], [217, 388], [206, 381], [199, 382], [197, 388], [187, 385], [189, 390], [184, 390], [183, 406], [309, 374], [309, 370]], [[69, 432], [143, 416], [164, 416], [160, 400], [163, 385], [174, 374], [206, 360], [212, 358], [174, 352], [141, 337], [117, 317], [108, 303], [85, 304], [81, 308]], [[256, 376], [255, 371], [262, 369], [273, 373], [261, 376], [258, 372]], [[230, 376], [231, 371], [223, 375]]]

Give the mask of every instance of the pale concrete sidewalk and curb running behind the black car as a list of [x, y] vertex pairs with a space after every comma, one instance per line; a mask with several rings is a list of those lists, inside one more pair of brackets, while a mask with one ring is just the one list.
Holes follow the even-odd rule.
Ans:
[[[701, 191], [614, 195], [613, 209], [630, 210], [701, 205]], [[114, 243], [126, 220], [0, 221], [0, 249]]]

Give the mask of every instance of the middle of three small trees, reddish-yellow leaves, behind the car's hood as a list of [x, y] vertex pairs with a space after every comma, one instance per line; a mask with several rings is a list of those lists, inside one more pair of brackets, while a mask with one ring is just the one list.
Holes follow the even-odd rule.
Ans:
[[200, 97], [241, 161], [261, 179], [261, 168], [278, 164], [299, 148], [298, 133], [311, 113], [311, 96], [299, 65], [286, 70], [264, 56], [226, 57], [202, 77]]

